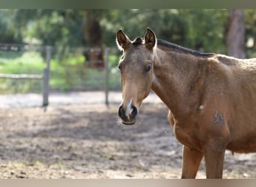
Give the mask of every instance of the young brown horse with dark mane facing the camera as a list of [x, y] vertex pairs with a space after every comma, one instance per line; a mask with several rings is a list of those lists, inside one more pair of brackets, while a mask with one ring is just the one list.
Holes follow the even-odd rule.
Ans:
[[135, 123], [152, 89], [169, 108], [168, 120], [183, 144], [182, 178], [195, 178], [204, 156], [207, 178], [222, 178], [225, 150], [256, 152], [256, 58], [201, 53], [156, 40], [116, 35], [122, 123]]

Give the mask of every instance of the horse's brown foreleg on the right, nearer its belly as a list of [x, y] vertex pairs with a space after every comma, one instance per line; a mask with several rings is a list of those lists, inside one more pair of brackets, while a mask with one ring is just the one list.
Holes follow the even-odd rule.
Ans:
[[207, 148], [204, 150], [207, 179], [221, 179], [224, 165], [225, 150]]

